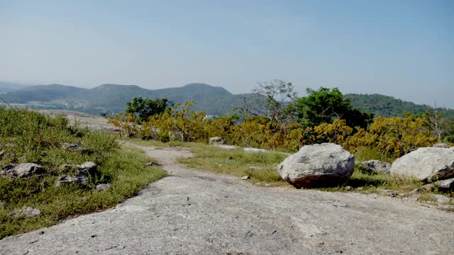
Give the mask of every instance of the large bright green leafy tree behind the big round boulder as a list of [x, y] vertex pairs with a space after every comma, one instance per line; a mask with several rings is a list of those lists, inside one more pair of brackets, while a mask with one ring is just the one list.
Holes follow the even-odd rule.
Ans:
[[338, 88], [319, 90], [306, 89], [307, 96], [297, 98], [293, 108], [297, 111], [297, 121], [306, 127], [315, 127], [334, 120], [346, 120], [347, 125], [366, 128], [372, 122], [372, 113], [362, 113], [351, 106]]

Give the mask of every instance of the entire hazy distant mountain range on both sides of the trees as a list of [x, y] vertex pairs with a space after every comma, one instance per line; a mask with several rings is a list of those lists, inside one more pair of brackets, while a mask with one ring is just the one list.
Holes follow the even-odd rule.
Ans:
[[[100, 113], [118, 113], [124, 111], [126, 102], [133, 97], [162, 98], [167, 97], [174, 103], [195, 101], [195, 111], [204, 111], [207, 115], [231, 113], [233, 108], [242, 106], [243, 98], [256, 100], [258, 94], [233, 95], [226, 89], [208, 84], [187, 84], [177, 88], [143, 89], [135, 85], [103, 84], [93, 89], [83, 89], [60, 84], [14, 86], [0, 82], [0, 89], [9, 89], [0, 94], [4, 101], [28, 108], [64, 109], [99, 115]], [[426, 113], [430, 106], [417, 105], [402, 101], [392, 96], [380, 94], [345, 94], [352, 106], [361, 111], [375, 113], [375, 116], [403, 116], [405, 112]], [[445, 117], [454, 118], [454, 110], [438, 108]]]

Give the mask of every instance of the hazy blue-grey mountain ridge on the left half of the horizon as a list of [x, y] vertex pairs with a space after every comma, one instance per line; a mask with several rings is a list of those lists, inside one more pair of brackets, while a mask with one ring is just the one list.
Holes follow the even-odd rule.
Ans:
[[[240, 106], [243, 97], [255, 98], [255, 94], [233, 95], [226, 89], [208, 84], [187, 84], [177, 88], [143, 89], [135, 85], [103, 84], [93, 89], [81, 89], [60, 84], [30, 86], [4, 94], [9, 103], [26, 104], [28, 108], [51, 108], [99, 114], [108, 111], [124, 111], [126, 102], [133, 97], [163, 98], [173, 103], [195, 101], [194, 111], [207, 115], [231, 113]], [[39, 101], [40, 103], [37, 103]]]

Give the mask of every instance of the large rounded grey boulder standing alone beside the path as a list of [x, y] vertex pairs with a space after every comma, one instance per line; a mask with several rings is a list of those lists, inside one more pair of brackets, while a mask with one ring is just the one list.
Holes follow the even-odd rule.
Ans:
[[277, 166], [296, 188], [338, 186], [353, 174], [355, 156], [335, 144], [306, 145]]

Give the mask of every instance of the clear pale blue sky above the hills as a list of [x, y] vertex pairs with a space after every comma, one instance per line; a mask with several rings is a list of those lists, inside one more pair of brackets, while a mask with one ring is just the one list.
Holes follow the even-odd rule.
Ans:
[[280, 79], [454, 108], [453, 31], [451, 0], [0, 0], [0, 81], [240, 94]]

